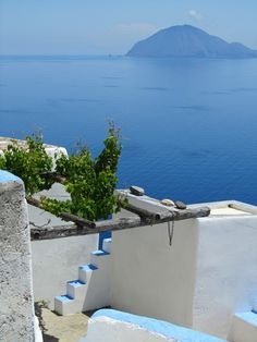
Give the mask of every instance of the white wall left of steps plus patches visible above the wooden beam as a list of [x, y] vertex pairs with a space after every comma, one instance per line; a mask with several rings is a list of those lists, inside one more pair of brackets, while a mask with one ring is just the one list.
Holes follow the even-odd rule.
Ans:
[[[49, 191], [35, 195], [59, 200], [70, 198], [62, 184], [54, 183]], [[28, 205], [30, 227], [69, 225], [73, 222]], [[32, 241], [33, 285], [36, 301], [48, 302], [53, 308], [54, 297], [66, 293], [66, 282], [77, 279], [77, 268], [90, 260], [90, 252], [97, 249], [99, 234]]]

